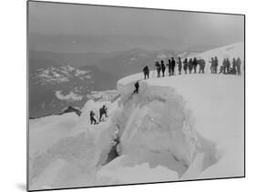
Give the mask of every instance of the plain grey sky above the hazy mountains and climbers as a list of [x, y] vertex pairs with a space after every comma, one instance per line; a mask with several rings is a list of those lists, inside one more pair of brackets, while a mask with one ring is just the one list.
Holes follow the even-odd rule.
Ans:
[[[91, 41], [94, 41], [96, 37], [103, 38], [105, 36], [109, 40], [109, 38], [119, 36], [118, 43], [114, 43], [118, 46], [111, 42], [110, 46], [113, 46], [113, 50], [115, 48], [122, 49], [122, 45], [124, 49], [132, 47], [131, 41], [129, 45], [125, 41], [132, 40], [131, 38], [136, 36], [156, 37], [160, 41], [169, 42], [168, 45], [183, 48], [197, 45], [225, 45], [243, 41], [244, 36], [243, 16], [241, 15], [30, 2], [28, 19], [29, 35], [66, 36], [67, 38], [79, 36]], [[128, 38], [124, 38], [124, 42], [120, 42], [122, 41], [120, 36], [128, 36]], [[42, 44], [38, 41], [35, 40], [31, 46], [40, 49], [40, 45], [44, 45], [45, 39], [41, 40]], [[56, 42], [54, 49], [58, 49], [63, 41], [62, 39], [61, 42]], [[89, 47], [86, 47], [90, 45], [94, 49], [91, 51], [97, 51], [97, 48], [104, 51], [109, 46], [109, 42], [106, 43], [106, 40], [101, 42], [108, 45], [100, 47], [100, 42], [97, 42], [97, 45], [92, 45], [91, 42], [90, 44], [84, 42], [84, 45], [81, 45], [83, 44], [81, 41], [77, 47], [90, 51]], [[71, 43], [76, 44], [76, 39]], [[47, 43], [47, 45], [51, 45], [51, 43]], [[43, 49], [47, 45], [44, 45]], [[147, 45], [141, 44], [141, 46]], [[139, 44], [134, 43], [134, 46], [139, 46]], [[163, 48], [166, 46], [163, 44]], [[158, 47], [160, 47], [160, 43]], [[112, 49], [110, 48], [110, 50]]]

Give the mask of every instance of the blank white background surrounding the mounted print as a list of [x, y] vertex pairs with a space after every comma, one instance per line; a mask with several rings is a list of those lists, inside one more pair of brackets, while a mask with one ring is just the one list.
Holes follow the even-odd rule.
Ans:
[[[54, 1], [54, 0], [53, 0]], [[241, 179], [224, 179], [195, 181], [169, 184], [155, 184], [127, 187], [102, 187], [62, 191], [247, 191], [255, 188], [254, 171], [256, 171], [254, 126], [255, 108], [255, 5], [253, 1], [228, 0], [62, 0], [70, 3], [122, 5], [180, 10], [196, 10], [223, 13], [246, 14], [246, 65], [247, 65], [247, 177]], [[0, 123], [0, 181], [1, 191], [25, 191], [26, 185], [26, 0], [1, 2], [1, 123]]]

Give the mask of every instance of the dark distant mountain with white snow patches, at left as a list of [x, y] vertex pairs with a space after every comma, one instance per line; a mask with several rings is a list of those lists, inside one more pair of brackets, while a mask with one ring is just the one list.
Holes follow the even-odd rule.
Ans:
[[91, 91], [114, 89], [117, 80], [97, 66], [39, 67], [29, 74], [29, 117], [57, 114], [67, 106], [80, 108]]

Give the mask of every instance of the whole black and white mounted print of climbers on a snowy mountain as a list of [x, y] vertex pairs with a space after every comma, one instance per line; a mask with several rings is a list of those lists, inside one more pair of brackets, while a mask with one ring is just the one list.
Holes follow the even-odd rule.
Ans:
[[245, 15], [26, 6], [29, 191], [245, 177]]

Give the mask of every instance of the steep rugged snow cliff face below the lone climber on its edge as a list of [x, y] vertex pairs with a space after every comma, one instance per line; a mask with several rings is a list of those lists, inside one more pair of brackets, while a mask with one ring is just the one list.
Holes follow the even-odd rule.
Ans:
[[[150, 86], [147, 81], [140, 81], [138, 95], [131, 96], [133, 83], [118, 82], [118, 90], [125, 90], [117, 116], [112, 119], [112, 126], [118, 126], [119, 157], [99, 170], [97, 177], [104, 178], [102, 182], [145, 183], [178, 180], [187, 175], [197, 177], [218, 162], [220, 154], [214, 142], [200, 136], [193, 127], [191, 112], [182, 96], [170, 86]], [[192, 166], [195, 161], [196, 166]], [[156, 170], [148, 170], [147, 165]], [[139, 170], [141, 176], [151, 171], [151, 177], [135, 180], [120, 174], [126, 169], [133, 175]], [[166, 171], [170, 173], [165, 177], [152, 177], [163, 176]]]

